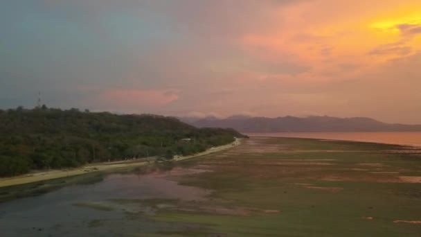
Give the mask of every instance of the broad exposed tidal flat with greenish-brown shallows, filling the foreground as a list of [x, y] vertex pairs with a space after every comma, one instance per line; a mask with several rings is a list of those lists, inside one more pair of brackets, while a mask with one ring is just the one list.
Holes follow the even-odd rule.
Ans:
[[[75, 177], [73, 177], [75, 179]], [[421, 150], [253, 137], [196, 159], [1, 188], [1, 236], [421, 236]], [[33, 184], [35, 185], [35, 184]], [[11, 198], [12, 197], [12, 198]]]

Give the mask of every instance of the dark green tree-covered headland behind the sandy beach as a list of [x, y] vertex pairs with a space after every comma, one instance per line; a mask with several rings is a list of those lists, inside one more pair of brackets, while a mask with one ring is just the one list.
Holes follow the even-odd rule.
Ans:
[[242, 135], [165, 116], [18, 107], [0, 110], [0, 176], [127, 158], [172, 159], [231, 143], [234, 137]]

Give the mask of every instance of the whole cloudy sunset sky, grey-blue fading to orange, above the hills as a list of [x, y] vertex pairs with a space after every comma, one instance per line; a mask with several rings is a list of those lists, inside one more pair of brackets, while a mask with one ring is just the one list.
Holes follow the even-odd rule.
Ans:
[[421, 123], [420, 0], [16, 0], [0, 108]]

